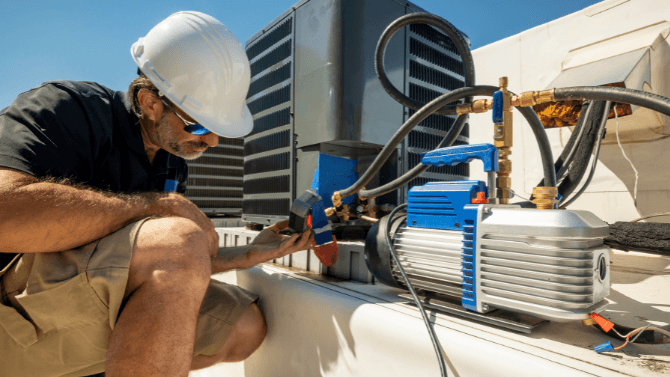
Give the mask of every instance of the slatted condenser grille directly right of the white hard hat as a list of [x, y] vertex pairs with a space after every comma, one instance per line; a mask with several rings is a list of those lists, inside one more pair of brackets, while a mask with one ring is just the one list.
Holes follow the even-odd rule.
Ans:
[[293, 198], [293, 15], [247, 46], [251, 83], [247, 105], [254, 128], [244, 144], [243, 220], [268, 223], [288, 216]]

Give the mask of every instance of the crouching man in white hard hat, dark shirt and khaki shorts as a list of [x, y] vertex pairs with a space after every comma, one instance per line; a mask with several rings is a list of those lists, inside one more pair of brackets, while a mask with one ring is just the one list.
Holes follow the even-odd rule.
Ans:
[[127, 94], [54, 81], [0, 111], [0, 254], [16, 254], [0, 273], [0, 376], [185, 376], [243, 360], [265, 337], [256, 297], [210, 275], [311, 244], [280, 223], [219, 250], [209, 219], [161, 192], [184, 192], [183, 159], [251, 131], [232, 33], [179, 12], [131, 54]]

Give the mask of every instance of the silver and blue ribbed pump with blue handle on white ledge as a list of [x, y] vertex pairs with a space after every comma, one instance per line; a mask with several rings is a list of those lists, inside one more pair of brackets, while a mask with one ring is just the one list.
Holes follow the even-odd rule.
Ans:
[[[481, 159], [493, 172], [496, 153], [490, 144], [465, 145], [429, 152], [422, 163]], [[603, 310], [610, 287], [603, 244], [608, 225], [587, 211], [482, 203], [489, 188], [481, 181], [412, 188], [406, 215], [385, 217], [370, 230], [369, 270], [382, 283], [406, 287], [385, 241], [391, 221], [392, 247], [416, 289], [460, 298], [479, 313], [499, 308], [558, 322]]]

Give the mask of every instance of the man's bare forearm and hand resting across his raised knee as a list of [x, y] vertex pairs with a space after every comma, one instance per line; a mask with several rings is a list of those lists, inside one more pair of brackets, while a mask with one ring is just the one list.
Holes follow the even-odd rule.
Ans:
[[0, 168], [0, 252], [69, 250], [149, 216], [189, 218], [214, 234], [218, 249], [211, 222], [181, 195], [115, 195]]

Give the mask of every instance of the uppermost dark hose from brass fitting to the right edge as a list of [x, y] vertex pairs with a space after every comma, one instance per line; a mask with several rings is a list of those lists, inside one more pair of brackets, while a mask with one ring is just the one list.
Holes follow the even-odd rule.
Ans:
[[554, 97], [556, 101], [590, 99], [629, 103], [670, 116], [669, 98], [634, 89], [612, 86], [577, 86], [574, 88], [557, 88], [554, 91]]

